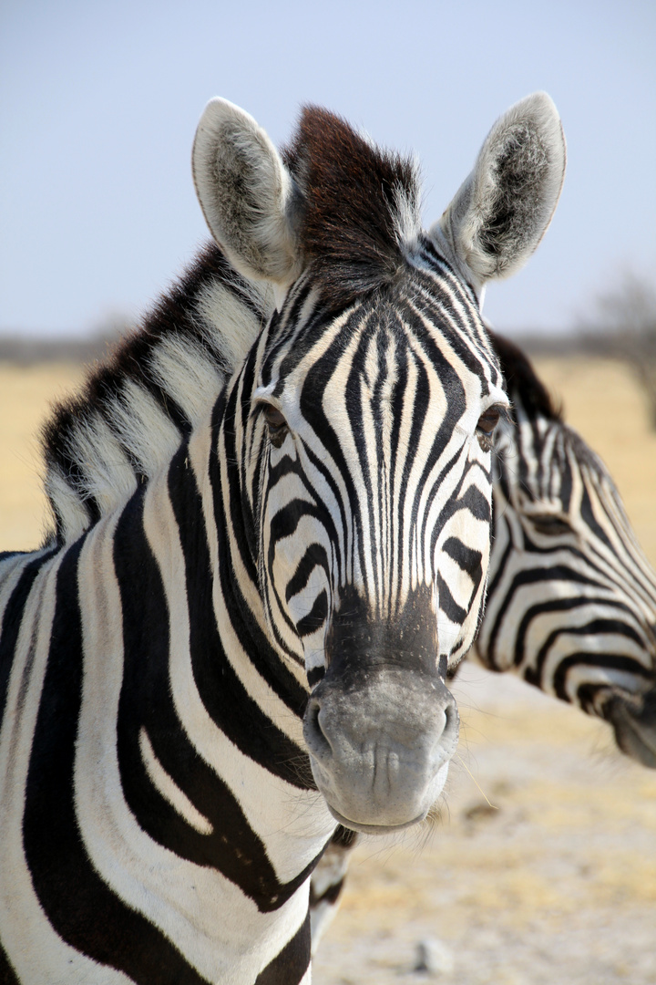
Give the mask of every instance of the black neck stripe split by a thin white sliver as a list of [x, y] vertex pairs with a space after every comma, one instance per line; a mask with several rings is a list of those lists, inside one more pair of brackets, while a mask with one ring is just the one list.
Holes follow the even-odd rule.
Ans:
[[[121, 518], [114, 549], [125, 646], [118, 755], [126, 801], [158, 844], [180, 858], [216, 869], [262, 912], [277, 909], [305, 882], [311, 867], [289, 883], [278, 882], [267, 848], [236, 798], [182, 731], [170, 693], [166, 598], [137, 506], [139, 501]], [[179, 604], [184, 604], [182, 598]], [[232, 700], [225, 686], [222, 697]], [[151, 784], [139, 743], [142, 726], [165, 771], [212, 825], [209, 834], [185, 821]]]

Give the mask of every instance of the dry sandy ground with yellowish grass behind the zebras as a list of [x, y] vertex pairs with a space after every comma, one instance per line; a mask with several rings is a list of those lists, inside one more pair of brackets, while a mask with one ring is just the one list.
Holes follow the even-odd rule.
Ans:
[[[656, 433], [626, 369], [541, 360], [567, 421], [616, 478], [656, 562]], [[43, 530], [35, 433], [73, 365], [0, 365], [0, 550]], [[317, 985], [656, 985], [656, 773], [601, 723], [475, 668], [431, 831], [357, 849]], [[492, 805], [492, 806], [490, 806]], [[432, 972], [413, 971], [424, 943]]]

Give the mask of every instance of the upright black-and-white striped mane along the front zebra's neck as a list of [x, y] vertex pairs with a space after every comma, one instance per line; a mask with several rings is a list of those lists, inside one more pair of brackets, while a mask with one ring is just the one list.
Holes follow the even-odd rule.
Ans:
[[[59, 543], [71, 541], [170, 461], [244, 360], [272, 307], [210, 243], [82, 392], [41, 429]], [[51, 539], [51, 537], [49, 538]]]

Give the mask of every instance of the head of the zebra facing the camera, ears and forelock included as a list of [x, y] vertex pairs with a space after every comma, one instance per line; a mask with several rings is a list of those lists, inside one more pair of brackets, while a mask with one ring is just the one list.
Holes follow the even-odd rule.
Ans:
[[553, 103], [525, 99], [425, 232], [414, 166], [325, 110], [282, 155], [222, 99], [199, 125], [209, 228], [276, 297], [232, 391], [262, 605], [307, 675], [317, 786], [358, 830], [423, 820], [446, 779], [445, 678], [479, 621], [507, 406], [479, 296], [537, 245], [564, 168]]

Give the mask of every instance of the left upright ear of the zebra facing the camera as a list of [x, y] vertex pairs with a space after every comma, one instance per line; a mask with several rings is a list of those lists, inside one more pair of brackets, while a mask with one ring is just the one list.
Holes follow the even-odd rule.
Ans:
[[293, 280], [300, 272], [291, 223], [299, 192], [253, 117], [227, 99], [210, 99], [192, 170], [209, 230], [235, 269], [279, 284]]

